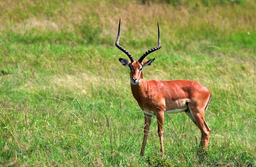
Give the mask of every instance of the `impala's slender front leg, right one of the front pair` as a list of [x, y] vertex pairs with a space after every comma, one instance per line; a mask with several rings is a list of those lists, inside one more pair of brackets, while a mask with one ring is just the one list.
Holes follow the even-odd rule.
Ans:
[[161, 153], [164, 156], [164, 150], [163, 150], [163, 121], [164, 121], [164, 112], [163, 110], [156, 112], [156, 118], [157, 118], [157, 131], [158, 136], [160, 139], [160, 145], [161, 145]]

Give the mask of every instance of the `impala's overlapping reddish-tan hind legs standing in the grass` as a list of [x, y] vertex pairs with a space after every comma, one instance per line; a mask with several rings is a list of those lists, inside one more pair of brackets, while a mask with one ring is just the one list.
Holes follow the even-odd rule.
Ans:
[[201, 146], [208, 147], [210, 138], [210, 128], [204, 119], [204, 108], [193, 107], [188, 105], [189, 110], [186, 112], [188, 117], [198, 126], [201, 131]]

